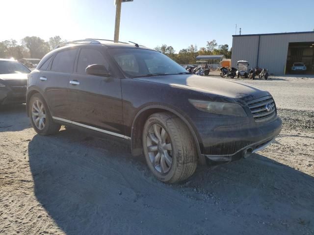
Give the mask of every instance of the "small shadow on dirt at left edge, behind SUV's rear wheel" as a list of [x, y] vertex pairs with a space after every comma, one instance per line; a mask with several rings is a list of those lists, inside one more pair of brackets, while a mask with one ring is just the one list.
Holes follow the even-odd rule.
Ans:
[[21, 131], [29, 127], [25, 104], [0, 106], [0, 132]]

